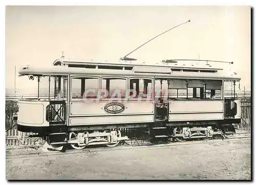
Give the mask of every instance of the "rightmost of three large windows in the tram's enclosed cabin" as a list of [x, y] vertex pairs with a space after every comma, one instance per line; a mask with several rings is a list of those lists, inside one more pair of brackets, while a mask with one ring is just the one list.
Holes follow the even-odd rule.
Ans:
[[[135, 94], [134, 94], [135, 93]], [[133, 98], [147, 98], [152, 95], [152, 80], [137, 78], [130, 79], [130, 99]]]

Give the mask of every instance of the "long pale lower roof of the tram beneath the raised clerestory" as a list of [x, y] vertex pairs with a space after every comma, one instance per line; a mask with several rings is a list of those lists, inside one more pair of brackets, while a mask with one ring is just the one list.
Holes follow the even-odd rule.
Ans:
[[[48, 75], [100, 75], [100, 76], [143, 76], [156, 78], [194, 78], [194, 79], [226, 79], [226, 80], [240, 80], [237, 76], [226, 76], [225, 73], [199, 73], [199, 72], [183, 72], [172, 71], [167, 68], [152, 68], [152, 67], [133, 67], [133, 70], [108, 70], [96, 68], [81, 68], [68, 66], [50, 66], [50, 67], [33, 67], [26, 66], [19, 71], [19, 75], [34, 75], [34, 76], [48, 76]], [[224, 74], [224, 75], [223, 75]]]

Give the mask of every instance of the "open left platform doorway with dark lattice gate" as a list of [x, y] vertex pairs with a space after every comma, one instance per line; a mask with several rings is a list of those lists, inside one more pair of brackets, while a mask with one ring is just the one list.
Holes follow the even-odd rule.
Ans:
[[47, 108], [49, 124], [67, 124], [68, 76], [55, 76], [54, 98], [50, 99]]

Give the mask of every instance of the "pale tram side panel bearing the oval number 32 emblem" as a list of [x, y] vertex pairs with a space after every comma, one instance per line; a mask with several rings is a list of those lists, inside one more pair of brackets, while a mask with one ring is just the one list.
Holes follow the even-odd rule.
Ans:
[[154, 102], [71, 102], [70, 126], [154, 122]]

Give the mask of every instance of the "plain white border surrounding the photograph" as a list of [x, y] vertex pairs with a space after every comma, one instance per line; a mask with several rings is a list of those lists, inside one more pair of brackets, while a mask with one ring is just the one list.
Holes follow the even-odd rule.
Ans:
[[[153, 1], [153, 0], [147, 0], [147, 1], [134, 1], [134, 0], [126, 0], [126, 1], [117, 1], [117, 0], [112, 0], [112, 1], [99, 1], [99, 0], [94, 0], [94, 1], [87, 1], [87, 2], [83, 2], [83, 1], [78, 1], [78, 0], [73, 0], [73, 1], [67, 1], [67, 0], [62, 0], [62, 1], [56, 1], [56, 0], [40, 0], [40, 1], [35, 1], [35, 0], [28, 0], [28, 1], [17, 1], [17, 0], [13, 0], [13, 1], [1, 1], [0, 2], [0, 5], [1, 6], [1, 9], [0, 9], [0, 16], [1, 16], [1, 36], [2, 36], [2, 42], [1, 42], [1, 58], [2, 58], [2, 64], [4, 64], [4, 66], [2, 65], [1, 67], [1, 70], [2, 70], [2, 73], [1, 74], [1, 80], [3, 80], [3, 82], [5, 83], [5, 6], [6, 5], [163, 5], [163, 6], [195, 6], [195, 5], [236, 5], [236, 6], [252, 6], [254, 7], [255, 5], [255, 2], [256, 1], [252, 1], [252, 0], [239, 0], [239, 1], [232, 1], [232, 0], [215, 0], [215, 1], [200, 1], [200, 0], [194, 0], [194, 1], [188, 1], [188, 0], [179, 0], [179, 1], [164, 1], [164, 0], [158, 0], [158, 1]], [[255, 10], [254, 10], [255, 11]], [[253, 12], [254, 14], [254, 12]], [[255, 24], [255, 17], [253, 19], [253, 25]], [[252, 35], [253, 33], [251, 33]], [[253, 43], [251, 43], [253, 44]], [[252, 53], [255, 54], [255, 48], [253, 47], [253, 51], [251, 51]], [[254, 63], [254, 62], [253, 62]], [[255, 65], [254, 65], [255, 66]], [[253, 67], [253, 72], [255, 72], [256, 70], [254, 69]], [[254, 75], [252, 76], [252, 78], [254, 78]], [[254, 84], [254, 80], [252, 81], [253, 82], [253, 85]], [[2, 84], [4, 84], [2, 83]], [[2, 87], [1, 90], [0, 90], [0, 93], [2, 95], [2, 97], [5, 97], [5, 90], [4, 88]], [[254, 94], [253, 94], [254, 95]], [[4, 117], [5, 117], [5, 113], [4, 113], [4, 110], [5, 110], [5, 100], [2, 101], [2, 110], [0, 111], [1, 112], [1, 116], [2, 116], [2, 120], [4, 120]], [[255, 115], [255, 112], [253, 111], [253, 114]], [[252, 115], [253, 115], [252, 114]], [[5, 124], [1, 124], [2, 125], [2, 130], [5, 130]], [[253, 127], [254, 129], [252, 130], [252, 132], [254, 132], [256, 129], [255, 129], [255, 126]], [[3, 160], [3, 163], [2, 164], [5, 164], [5, 134], [3, 133], [2, 134], [2, 137], [3, 137], [3, 140], [2, 140], [2, 148], [3, 148], [3, 152], [1, 153], [1, 159]], [[254, 140], [254, 138], [253, 138]], [[254, 141], [255, 142], [255, 141]], [[2, 170], [1, 170], [1, 176], [2, 176], [2, 183], [4, 182], [7, 183], [7, 181], [5, 180], [6, 179], [6, 175], [5, 175], [5, 165], [2, 165]], [[254, 170], [255, 171], [255, 170]], [[251, 174], [253, 175], [253, 174]], [[68, 182], [68, 181], [67, 181]], [[70, 182], [68, 182], [70, 183]], [[148, 182], [145, 182], [145, 183], [148, 183]], [[242, 182], [243, 183], [243, 182]], [[87, 182], [88, 184], [88, 182]], [[89, 182], [90, 184], [90, 182]]]

